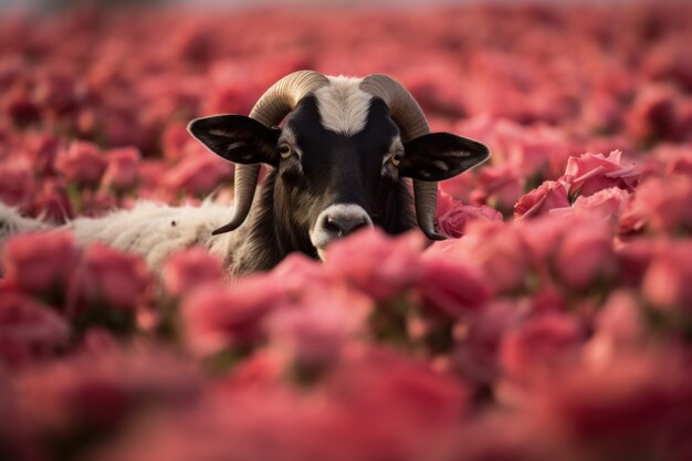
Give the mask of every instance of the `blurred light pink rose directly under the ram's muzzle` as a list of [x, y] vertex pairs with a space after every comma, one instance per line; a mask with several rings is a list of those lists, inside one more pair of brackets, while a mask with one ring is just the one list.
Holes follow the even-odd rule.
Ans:
[[327, 248], [326, 269], [336, 277], [387, 301], [412, 286], [420, 277], [419, 233], [391, 238], [378, 229], [366, 229]]

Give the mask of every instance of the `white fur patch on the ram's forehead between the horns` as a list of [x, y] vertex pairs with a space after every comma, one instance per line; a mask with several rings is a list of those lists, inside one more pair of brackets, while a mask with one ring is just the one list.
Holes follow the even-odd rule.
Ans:
[[329, 77], [331, 85], [315, 92], [322, 126], [342, 135], [365, 128], [373, 95], [360, 90], [361, 78]]

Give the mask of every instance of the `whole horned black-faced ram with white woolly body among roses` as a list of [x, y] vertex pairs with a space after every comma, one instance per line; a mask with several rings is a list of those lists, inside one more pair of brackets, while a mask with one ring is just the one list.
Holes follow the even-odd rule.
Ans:
[[[331, 242], [364, 227], [398, 234], [418, 224], [440, 240], [437, 181], [490, 157], [481, 143], [430, 133], [412, 95], [380, 74], [294, 72], [272, 85], [249, 116], [197, 118], [188, 130], [235, 164], [230, 221], [222, 221], [228, 208], [211, 201], [143, 202], [70, 222], [78, 243], [140, 253], [154, 269], [172, 251], [197, 244], [240, 274], [269, 270], [294, 251], [324, 259]], [[262, 165], [269, 171], [258, 187]]]

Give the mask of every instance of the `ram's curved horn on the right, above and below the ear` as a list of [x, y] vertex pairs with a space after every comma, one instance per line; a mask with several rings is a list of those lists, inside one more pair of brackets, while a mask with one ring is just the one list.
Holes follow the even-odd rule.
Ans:
[[[430, 133], [428, 121], [422, 109], [400, 83], [387, 75], [373, 74], [363, 78], [360, 90], [378, 96], [389, 106], [389, 114], [401, 130], [403, 143]], [[437, 181], [413, 179], [413, 199], [418, 226], [431, 240], [443, 240], [444, 237], [434, 231], [434, 214], [438, 206]]]

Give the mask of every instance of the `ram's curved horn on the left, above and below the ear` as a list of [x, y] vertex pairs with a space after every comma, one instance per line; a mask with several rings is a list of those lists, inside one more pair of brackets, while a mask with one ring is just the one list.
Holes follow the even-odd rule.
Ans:
[[[316, 88], [329, 84], [329, 80], [315, 71], [297, 71], [274, 83], [250, 112], [250, 117], [265, 126], [279, 125], [298, 101]], [[261, 165], [237, 165], [234, 177], [233, 218], [214, 230], [212, 235], [230, 232], [243, 223], [258, 187]]]

